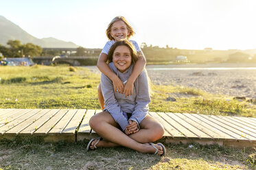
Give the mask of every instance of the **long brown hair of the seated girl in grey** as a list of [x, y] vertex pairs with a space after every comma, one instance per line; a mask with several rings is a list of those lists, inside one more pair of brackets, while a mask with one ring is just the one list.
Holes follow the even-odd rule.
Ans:
[[130, 56], [132, 57], [132, 64], [135, 64], [135, 62], [137, 62], [137, 60], [139, 59], [138, 55], [137, 55], [137, 51], [135, 49], [135, 47], [132, 45], [132, 42], [128, 41], [128, 40], [119, 40], [117, 42], [115, 42], [109, 49], [108, 51], [108, 57], [106, 59], [107, 63], [113, 62], [113, 54], [115, 49], [118, 46], [124, 45], [126, 47], [128, 47], [128, 49], [130, 50]]

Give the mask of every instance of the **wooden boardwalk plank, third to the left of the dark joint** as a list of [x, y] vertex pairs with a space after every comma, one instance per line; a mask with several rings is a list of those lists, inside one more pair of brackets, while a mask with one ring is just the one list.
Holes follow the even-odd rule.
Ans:
[[49, 121], [47, 121], [46, 123], [44, 123], [38, 130], [36, 130], [36, 132], [34, 132], [34, 135], [46, 135], [48, 134], [48, 132], [51, 130], [52, 127], [54, 127], [56, 125], [56, 123], [58, 123], [58, 121], [60, 121], [60, 119], [62, 119], [62, 117], [64, 117], [64, 115], [68, 112], [68, 109], [62, 109], [59, 112], [57, 112], [56, 114], [54, 114], [53, 117], [51, 117], [51, 119], [49, 119]]

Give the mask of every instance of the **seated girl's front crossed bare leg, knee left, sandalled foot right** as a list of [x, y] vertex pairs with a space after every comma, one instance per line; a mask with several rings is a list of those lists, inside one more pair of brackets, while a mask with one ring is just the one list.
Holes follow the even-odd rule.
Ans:
[[[100, 141], [97, 147], [111, 147], [121, 145], [130, 149], [135, 149], [136, 151], [140, 151], [142, 153], [153, 154], [156, 151], [156, 149], [154, 149], [154, 147], [152, 147], [148, 143], [138, 143], [133, 138], [130, 138], [130, 136], [124, 134], [124, 132], [121, 132], [121, 130], [117, 128], [118, 124], [108, 112], [101, 112], [95, 114], [90, 119], [89, 123], [91, 128], [95, 130], [97, 134], [102, 136], [102, 138], [106, 139], [106, 141], [109, 141]], [[106, 143], [108, 144], [106, 145]], [[159, 149], [158, 154], [163, 154], [163, 148], [159, 145], [155, 146]]]

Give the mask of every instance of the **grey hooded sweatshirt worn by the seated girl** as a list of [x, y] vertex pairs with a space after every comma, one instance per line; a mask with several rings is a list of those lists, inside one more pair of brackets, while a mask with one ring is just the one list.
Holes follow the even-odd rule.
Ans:
[[[124, 73], [118, 71], [113, 62], [110, 62], [108, 65], [122, 82], [126, 82], [132, 73], [132, 64]], [[128, 120], [136, 121], [139, 125], [146, 117], [149, 110], [148, 104], [150, 103], [146, 71], [142, 71], [137, 77], [134, 83], [133, 94], [128, 97], [114, 90], [113, 82], [103, 73], [100, 84], [105, 102], [105, 110], [112, 115], [113, 119], [115, 119], [123, 131], [129, 125]], [[127, 118], [126, 113], [132, 114], [130, 119]]]

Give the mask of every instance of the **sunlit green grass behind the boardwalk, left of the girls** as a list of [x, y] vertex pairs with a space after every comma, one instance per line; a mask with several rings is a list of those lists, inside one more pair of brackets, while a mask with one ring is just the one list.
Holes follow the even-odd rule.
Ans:
[[100, 108], [100, 75], [68, 66], [0, 66], [0, 108]]

